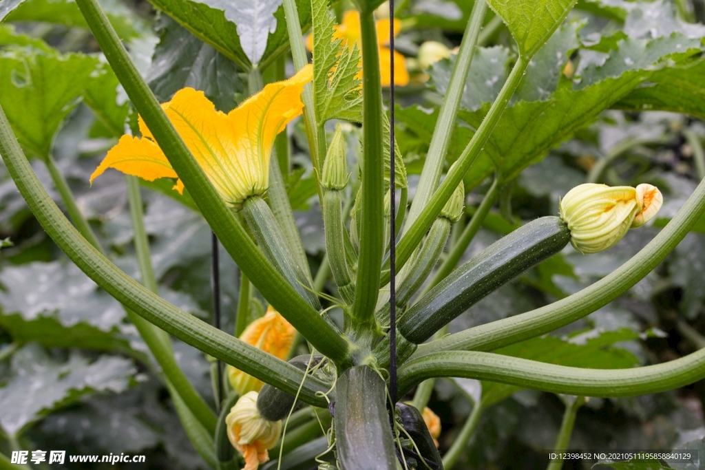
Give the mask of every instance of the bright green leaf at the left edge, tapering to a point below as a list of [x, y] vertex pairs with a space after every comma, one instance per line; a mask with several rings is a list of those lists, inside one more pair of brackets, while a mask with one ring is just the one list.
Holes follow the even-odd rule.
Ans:
[[25, 151], [44, 159], [56, 131], [80, 99], [97, 66], [82, 54], [0, 53], [0, 104]]

